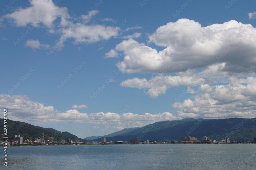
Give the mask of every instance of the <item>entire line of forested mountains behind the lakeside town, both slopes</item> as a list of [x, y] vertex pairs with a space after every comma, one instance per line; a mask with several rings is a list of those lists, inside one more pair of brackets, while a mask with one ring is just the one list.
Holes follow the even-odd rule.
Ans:
[[[4, 119], [0, 119], [2, 132], [4, 131]], [[17, 122], [8, 119], [8, 136], [10, 140], [14, 139], [14, 135], [23, 136], [24, 139], [34, 140], [34, 138], [45, 139], [54, 137], [55, 140], [67, 140], [67, 138], [81, 139], [69, 132], [60, 132], [53, 128], [43, 128], [30, 125], [24, 122]], [[130, 138], [138, 138], [142, 140], [158, 140], [158, 141], [174, 141], [182, 140], [183, 137], [197, 137], [202, 140], [203, 136], [209, 139], [221, 140], [225, 137], [230, 141], [252, 141], [256, 136], [256, 118], [242, 119], [193, 119], [187, 118], [174, 121], [155, 122], [143, 127], [125, 128], [118, 132], [103, 136], [90, 136], [81, 139], [86, 141], [101, 141], [102, 137], [106, 137], [106, 141], [130, 141]]]

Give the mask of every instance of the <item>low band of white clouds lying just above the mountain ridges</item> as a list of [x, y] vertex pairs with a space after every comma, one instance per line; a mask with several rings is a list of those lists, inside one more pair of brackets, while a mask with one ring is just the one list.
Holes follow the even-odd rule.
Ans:
[[[249, 77], [244, 80], [251, 84], [256, 82], [256, 78]], [[242, 85], [241, 85], [242, 86]], [[248, 95], [248, 90], [254, 88], [253, 96]], [[195, 100], [185, 100], [183, 103], [173, 104], [177, 108], [176, 116], [169, 112], [159, 114], [133, 114], [124, 113], [81, 113], [76, 109], [58, 111], [53, 106], [33, 102], [26, 95], [0, 95], [0, 109], [8, 108], [8, 118], [14, 121], [21, 121], [30, 124], [49, 124], [70, 121], [72, 123], [87, 123], [106, 125], [112, 122], [112, 127], [116, 129], [142, 127], [150, 123], [166, 120], [179, 120], [184, 118], [229, 118], [256, 117], [256, 88], [253, 85], [244, 87], [226, 85], [210, 86], [201, 85]], [[225, 97], [219, 97], [222, 93]], [[238, 94], [238, 95], [237, 95]], [[252, 101], [253, 99], [253, 101]]]

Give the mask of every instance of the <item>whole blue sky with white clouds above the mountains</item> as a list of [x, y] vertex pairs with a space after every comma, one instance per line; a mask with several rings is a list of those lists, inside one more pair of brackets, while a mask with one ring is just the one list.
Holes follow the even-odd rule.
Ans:
[[10, 119], [84, 138], [256, 117], [255, 1], [58, 2], [0, 2], [0, 106]]

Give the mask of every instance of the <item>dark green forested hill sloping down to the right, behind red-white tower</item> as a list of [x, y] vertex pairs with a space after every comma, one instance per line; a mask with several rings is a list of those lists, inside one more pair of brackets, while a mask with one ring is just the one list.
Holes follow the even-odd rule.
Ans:
[[[0, 132], [1, 134], [4, 133], [4, 119], [0, 119], [0, 127], [3, 127]], [[35, 138], [42, 138], [42, 133], [44, 132], [45, 139], [48, 137], [54, 137], [54, 140], [67, 140], [68, 138], [73, 140], [74, 139], [81, 139], [69, 132], [60, 132], [53, 128], [44, 128], [39, 126], [30, 125], [24, 122], [17, 122], [8, 119], [8, 136], [9, 140], [14, 139], [14, 135], [20, 135], [23, 137], [24, 140], [34, 140]], [[86, 142], [87, 140], [81, 139], [81, 142]]]

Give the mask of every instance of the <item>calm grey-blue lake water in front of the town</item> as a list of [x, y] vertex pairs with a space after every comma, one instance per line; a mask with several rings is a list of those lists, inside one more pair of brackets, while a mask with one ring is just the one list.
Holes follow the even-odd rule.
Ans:
[[8, 147], [0, 169], [256, 169], [255, 160], [255, 144], [27, 146]]

